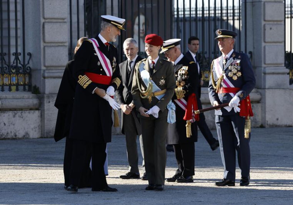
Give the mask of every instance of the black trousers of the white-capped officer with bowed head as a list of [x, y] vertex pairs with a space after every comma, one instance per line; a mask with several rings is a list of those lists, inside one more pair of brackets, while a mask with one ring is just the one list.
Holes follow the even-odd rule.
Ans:
[[185, 177], [193, 176], [195, 158], [194, 142], [186, 144], [173, 144], [173, 148], [178, 165], [175, 175], [183, 175]]

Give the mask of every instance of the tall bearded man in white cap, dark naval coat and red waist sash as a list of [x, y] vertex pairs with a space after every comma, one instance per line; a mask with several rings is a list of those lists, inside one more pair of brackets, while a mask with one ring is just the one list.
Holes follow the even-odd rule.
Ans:
[[73, 77], [77, 81], [69, 137], [73, 139], [70, 186], [67, 191], [77, 192], [81, 168], [86, 163], [88, 150], [92, 156], [92, 191], [115, 192], [108, 186], [104, 163], [106, 143], [111, 141], [112, 108], [120, 105], [110, 96], [120, 85], [115, 42], [125, 19], [101, 16], [101, 32], [85, 40], [76, 52]]

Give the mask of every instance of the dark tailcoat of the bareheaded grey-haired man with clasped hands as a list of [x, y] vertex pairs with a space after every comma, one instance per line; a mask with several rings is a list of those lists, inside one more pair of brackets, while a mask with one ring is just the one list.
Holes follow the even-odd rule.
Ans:
[[[135, 71], [135, 65], [137, 64], [137, 62], [141, 60], [142, 60], [142, 57], [137, 56], [130, 74], [127, 71], [128, 60], [119, 64], [119, 70], [120, 70], [120, 75], [122, 79], [120, 86], [116, 90], [116, 99], [119, 104], [123, 103], [123, 104], [129, 105], [130, 103], [134, 103], [132, 94], [131, 94], [132, 79], [133, 79], [133, 74]], [[133, 118], [134, 118], [137, 135], [140, 135], [142, 131], [141, 131], [140, 123], [139, 123], [139, 118], [137, 117], [136, 108], [132, 109], [131, 115], [133, 115]], [[121, 132], [122, 134], [125, 134], [124, 126], [123, 126], [123, 115], [121, 115]]]

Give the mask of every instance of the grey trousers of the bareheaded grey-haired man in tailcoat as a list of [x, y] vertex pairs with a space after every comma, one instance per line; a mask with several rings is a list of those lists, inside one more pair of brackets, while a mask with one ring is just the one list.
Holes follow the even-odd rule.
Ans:
[[[137, 153], [137, 132], [132, 113], [125, 115], [123, 113], [123, 127], [126, 139], [127, 159], [129, 163], [129, 172], [139, 173], [138, 169], [138, 153]], [[142, 143], [142, 135], [139, 135], [140, 149], [142, 151], [142, 169], [144, 168], [144, 146]]]

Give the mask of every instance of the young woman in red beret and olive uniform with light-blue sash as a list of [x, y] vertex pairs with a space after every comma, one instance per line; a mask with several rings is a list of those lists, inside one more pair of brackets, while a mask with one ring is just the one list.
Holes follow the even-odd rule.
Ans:
[[161, 191], [165, 183], [167, 105], [174, 94], [175, 74], [171, 62], [159, 58], [162, 38], [149, 34], [144, 42], [148, 58], [135, 67], [131, 93], [142, 127], [144, 162], [149, 181], [146, 190]]

